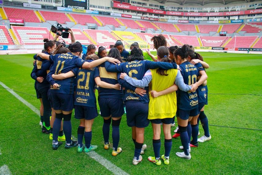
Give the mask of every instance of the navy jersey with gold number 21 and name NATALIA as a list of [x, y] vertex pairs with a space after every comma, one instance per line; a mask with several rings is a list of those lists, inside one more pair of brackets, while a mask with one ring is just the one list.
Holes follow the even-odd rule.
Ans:
[[97, 67], [91, 69], [78, 68], [73, 69], [76, 75], [76, 94], [75, 105], [96, 107], [96, 95], [94, 86], [95, 78], [99, 77], [99, 69]]

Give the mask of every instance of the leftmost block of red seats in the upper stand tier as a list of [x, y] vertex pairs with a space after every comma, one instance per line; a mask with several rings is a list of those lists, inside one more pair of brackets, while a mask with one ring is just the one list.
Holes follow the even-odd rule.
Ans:
[[34, 10], [3, 8], [6, 12], [7, 18], [24, 19], [25, 22], [40, 23], [40, 20], [35, 15]]

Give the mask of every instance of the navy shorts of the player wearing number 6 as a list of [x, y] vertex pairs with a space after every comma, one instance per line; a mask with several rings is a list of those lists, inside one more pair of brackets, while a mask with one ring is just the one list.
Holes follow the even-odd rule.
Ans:
[[147, 127], [149, 125], [148, 103], [139, 101], [125, 102], [126, 121], [129, 127]]

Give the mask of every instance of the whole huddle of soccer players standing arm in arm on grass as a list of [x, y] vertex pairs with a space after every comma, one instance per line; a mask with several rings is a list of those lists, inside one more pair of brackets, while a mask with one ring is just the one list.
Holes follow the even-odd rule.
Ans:
[[[56, 39], [56, 38], [55, 38]], [[72, 42], [68, 48], [63, 41], [44, 40], [44, 51], [34, 56], [36, 62], [31, 73], [35, 79], [37, 98], [40, 98], [42, 132], [49, 134], [52, 149], [65, 141], [65, 148], [77, 147], [77, 152], [97, 149], [91, 145], [92, 124], [98, 116], [96, 102], [103, 117], [104, 149], [109, 149], [112, 123], [112, 156], [122, 152], [119, 146], [121, 117], [126, 113], [127, 126], [132, 128], [135, 145], [133, 165], [142, 160], [147, 148], [144, 130], [151, 122], [154, 156], [148, 160], [161, 165], [169, 164], [172, 148], [171, 126], [177, 117], [178, 128], [173, 135], [180, 136], [183, 152], [176, 155], [190, 159], [190, 147], [198, 141], [211, 139], [208, 120], [204, 114], [207, 104], [208, 64], [190, 45], [166, 47], [163, 35], [152, 38], [157, 56], [143, 52], [138, 43], [130, 46], [130, 54], [117, 40], [107, 54], [104, 47], [90, 44], [87, 50]], [[84, 49], [84, 52], [83, 52]], [[145, 60], [148, 54], [153, 61]], [[98, 91], [96, 101], [95, 91]], [[72, 140], [71, 116], [79, 119], [78, 140]], [[50, 118], [51, 116], [51, 118]], [[205, 135], [198, 139], [199, 119]], [[165, 153], [160, 155], [161, 125], [164, 132]], [[192, 141], [191, 141], [192, 136]], [[85, 144], [83, 144], [85, 140]]]

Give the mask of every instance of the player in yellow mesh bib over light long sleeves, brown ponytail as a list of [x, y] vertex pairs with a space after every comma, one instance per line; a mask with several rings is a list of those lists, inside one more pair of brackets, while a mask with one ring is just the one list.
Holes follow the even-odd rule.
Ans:
[[[169, 57], [169, 49], [166, 46], [161, 46], [157, 50], [158, 61], [171, 62]], [[183, 77], [177, 69], [149, 69], [142, 80], [136, 80], [126, 73], [121, 73], [120, 78], [124, 79], [133, 86], [144, 88], [151, 82], [152, 91], [149, 93], [149, 113], [148, 119], [152, 123], [154, 137], [153, 148], [155, 156], [149, 156], [148, 160], [161, 165], [160, 160], [160, 133], [161, 123], [163, 123], [163, 131], [165, 135], [165, 154], [161, 156], [166, 165], [169, 164], [169, 155], [172, 147], [172, 137], [170, 133], [171, 123], [176, 114], [176, 93], [179, 89], [183, 91], [195, 90], [196, 85], [186, 85]], [[175, 84], [174, 84], [175, 83]], [[178, 86], [177, 86], [178, 85]]]

